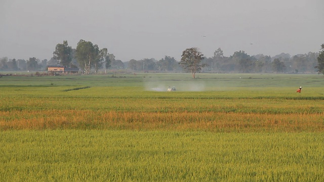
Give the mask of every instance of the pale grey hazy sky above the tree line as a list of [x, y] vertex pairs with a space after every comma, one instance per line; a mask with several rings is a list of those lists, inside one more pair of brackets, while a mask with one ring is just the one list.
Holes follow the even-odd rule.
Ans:
[[58, 43], [80, 39], [123, 62], [187, 48], [206, 57], [319, 52], [323, 0], [0, 0], [0, 58], [50, 59]]

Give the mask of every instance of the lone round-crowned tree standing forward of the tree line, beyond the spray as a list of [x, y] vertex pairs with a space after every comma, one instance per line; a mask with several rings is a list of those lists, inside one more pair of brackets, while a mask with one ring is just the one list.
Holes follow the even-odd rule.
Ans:
[[192, 77], [195, 78], [195, 74], [199, 73], [201, 68], [208, 66], [207, 64], [200, 64], [203, 59], [204, 55], [198, 48], [188, 48], [182, 52], [179, 65], [185, 72], [191, 72]]

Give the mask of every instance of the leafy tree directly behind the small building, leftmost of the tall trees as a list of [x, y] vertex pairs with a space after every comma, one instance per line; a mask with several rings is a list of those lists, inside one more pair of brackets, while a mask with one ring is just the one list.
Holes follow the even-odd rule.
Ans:
[[72, 48], [68, 46], [67, 40], [63, 40], [63, 43], [58, 43], [53, 52], [53, 58], [59, 61], [62, 66], [70, 66], [72, 61]]

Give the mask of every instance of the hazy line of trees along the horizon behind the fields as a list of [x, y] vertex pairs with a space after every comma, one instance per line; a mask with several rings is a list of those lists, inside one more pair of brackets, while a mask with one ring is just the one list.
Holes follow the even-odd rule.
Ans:
[[[221, 48], [218, 48], [213, 57], [207, 58], [198, 48], [189, 48], [183, 51], [180, 61], [174, 57], [165, 56], [160, 60], [145, 58], [123, 62], [116, 60], [113, 54], [109, 54], [107, 48], [99, 49], [97, 44], [81, 39], [76, 49], [72, 49], [67, 40], [58, 43], [50, 60], [39, 60], [35, 57], [16, 60], [3, 57], [0, 59], [0, 71], [46, 71], [47, 66], [60, 65], [79, 68], [88, 74], [98, 73], [98, 70], [102, 69], [192, 73], [201, 71], [211, 73], [316, 73], [324, 69], [323, 52], [324, 44], [321, 45], [319, 53], [309, 52], [295, 56], [281, 53], [270, 57], [263, 54], [250, 56], [245, 51], [237, 51], [232, 56], [226, 57]], [[195, 56], [196, 59], [192, 59]], [[195, 65], [193, 66], [190, 65], [190, 60], [198, 62], [192, 63]]]

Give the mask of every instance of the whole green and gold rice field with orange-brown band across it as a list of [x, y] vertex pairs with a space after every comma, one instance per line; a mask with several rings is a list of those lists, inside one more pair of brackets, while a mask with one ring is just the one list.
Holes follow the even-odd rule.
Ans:
[[317, 74], [2, 77], [0, 180], [323, 181], [323, 83]]

